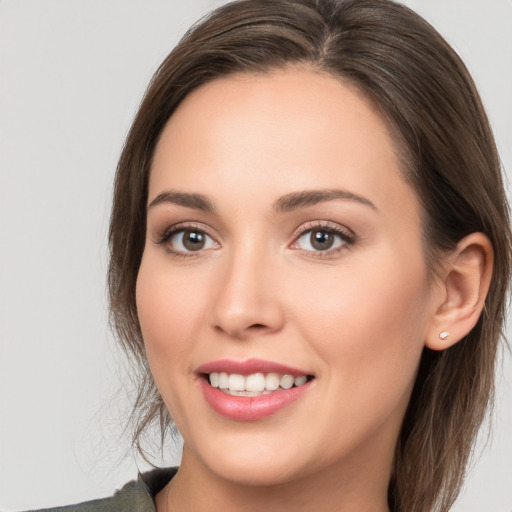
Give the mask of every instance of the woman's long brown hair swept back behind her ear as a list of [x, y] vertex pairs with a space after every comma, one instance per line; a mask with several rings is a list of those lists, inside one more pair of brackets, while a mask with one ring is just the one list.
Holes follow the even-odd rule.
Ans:
[[424, 349], [389, 483], [394, 511], [447, 511], [492, 403], [512, 236], [498, 153], [469, 72], [431, 25], [392, 0], [235, 1], [193, 26], [154, 75], [119, 160], [109, 233], [111, 320], [140, 374], [134, 445], [143, 453], [141, 436], [154, 421], [163, 442], [172, 424], [135, 303], [159, 136], [201, 84], [294, 65], [355, 87], [387, 121], [421, 203], [429, 268], [470, 233], [492, 243], [493, 278], [477, 325], [447, 350]]

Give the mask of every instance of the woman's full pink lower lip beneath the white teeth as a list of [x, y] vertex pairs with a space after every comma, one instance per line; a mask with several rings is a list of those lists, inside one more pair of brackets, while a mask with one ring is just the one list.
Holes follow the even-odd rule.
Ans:
[[210, 386], [206, 379], [199, 379], [203, 395], [210, 407], [226, 418], [238, 421], [255, 421], [266, 418], [288, 407], [309, 390], [311, 382], [302, 386], [279, 390], [260, 396], [232, 396]]

